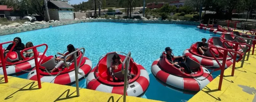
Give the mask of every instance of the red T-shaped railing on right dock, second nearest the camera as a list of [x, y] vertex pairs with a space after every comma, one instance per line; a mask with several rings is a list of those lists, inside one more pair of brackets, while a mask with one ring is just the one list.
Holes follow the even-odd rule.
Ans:
[[[223, 41], [223, 46], [226, 48], [226, 49], [228, 49], [227, 47], [226, 47], [226, 45], [224, 44], [224, 43], [233, 43], [233, 44], [235, 44], [235, 47], [234, 47], [234, 49], [235, 49], [235, 51], [237, 52], [237, 50], [238, 50], [238, 45], [245, 45], [245, 46], [248, 46], [248, 49], [246, 50], [246, 51], [244, 51], [244, 55], [246, 54], [246, 52], [248, 52], [249, 50], [251, 50], [251, 47], [250, 47], [250, 45], [248, 45], [248, 44], [244, 44], [244, 43], [237, 43], [237, 42], [230, 42], [230, 41]], [[235, 72], [235, 65], [236, 65], [236, 62], [235, 62], [235, 60], [236, 60], [236, 53], [234, 53], [234, 55], [232, 54], [232, 53], [230, 53], [231, 55], [232, 55], [232, 57], [233, 57], [233, 65], [232, 65], [232, 72], [231, 72], [231, 76], [234, 76], [234, 72]], [[240, 60], [239, 60], [240, 61]]]

